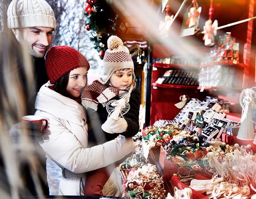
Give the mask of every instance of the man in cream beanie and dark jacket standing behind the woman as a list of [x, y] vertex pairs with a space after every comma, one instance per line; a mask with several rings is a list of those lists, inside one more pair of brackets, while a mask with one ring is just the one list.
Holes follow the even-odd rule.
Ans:
[[[26, 142], [42, 140], [43, 133], [36, 123], [20, 121], [34, 114], [36, 93], [48, 81], [44, 56], [56, 28], [55, 17], [45, 0], [13, 0], [7, 15], [9, 29], [0, 33], [0, 195], [49, 195], [45, 153], [38, 144], [31, 147]], [[10, 127], [18, 151], [6, 136]]]

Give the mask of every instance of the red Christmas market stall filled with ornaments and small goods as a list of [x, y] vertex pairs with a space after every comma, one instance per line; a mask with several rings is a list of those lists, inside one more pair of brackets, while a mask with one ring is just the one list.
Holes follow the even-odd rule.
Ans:
[[148, 45], [145, 125], [120, 165], [123, 196], [255, 198], [255, 2], [163, 4], [164, 42]]

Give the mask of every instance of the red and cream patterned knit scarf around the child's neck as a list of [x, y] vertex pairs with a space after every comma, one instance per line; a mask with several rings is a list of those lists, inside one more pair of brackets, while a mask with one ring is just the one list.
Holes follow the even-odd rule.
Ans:
[[126, 102], [129, 102], [130, 93], [132, 90], [133, 85], [129, 86], [126, 90], [119, 90], [113, 86], [106, 88], [104, 84], [101, 84], [99, 81], [95, 80], [92, 84], [85, 87], [82, 94], [82, 105], [86, 108], [97, 110], [98, 103], [105, 107], [108, 101], [116, 96], [122, 97], [126, 100]]

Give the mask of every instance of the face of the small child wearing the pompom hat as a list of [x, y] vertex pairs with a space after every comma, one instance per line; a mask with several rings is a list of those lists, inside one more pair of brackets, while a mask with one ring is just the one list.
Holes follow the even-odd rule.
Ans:
[[129, 68], [124, 71], [116, 71], [111, 75], [109, 80], [112, 86], [124, 90], [128, 88], [133, 81], [133, 70]]

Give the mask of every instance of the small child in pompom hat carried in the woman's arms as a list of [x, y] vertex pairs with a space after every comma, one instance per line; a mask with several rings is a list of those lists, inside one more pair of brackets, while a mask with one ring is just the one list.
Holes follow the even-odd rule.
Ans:
[[[139, 131], [140, 93], [135, 81], [133, 60], [127, 47], [117, 36], [108, 38], [108, 50], [103, 58], [103, 77], [87, 86], [82, 94], [82, 104], [87, 108], [89, 145], [95, 146], [115, 139], [119, 134], [132, 137]], [[112, 120], [109, 132], [101, 129], [108, 118], [106, 104], [124, 98], [130, 110], [118, 120]], [[85, 195], [102, 196], [103, 187], [114, 165], [87, 174]], [[98, 191], [97, 191], [98, 190]], [[104, 193], [106, 196], [106, 194]]]

